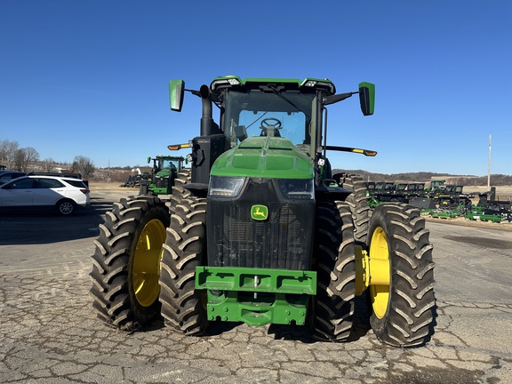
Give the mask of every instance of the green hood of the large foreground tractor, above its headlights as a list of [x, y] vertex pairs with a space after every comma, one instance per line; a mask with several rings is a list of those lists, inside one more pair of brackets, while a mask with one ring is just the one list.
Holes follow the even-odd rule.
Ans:
[[268, 179], [311, 179], [311, 159], [281, 137], [252, 137], [219, 156], [212, 166], [215, 176]]

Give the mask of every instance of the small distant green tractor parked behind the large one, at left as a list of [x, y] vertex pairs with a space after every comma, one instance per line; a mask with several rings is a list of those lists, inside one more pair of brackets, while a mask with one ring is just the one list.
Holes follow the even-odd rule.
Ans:
[[[185, 148], [182, 145], [179, 147]], [[148, 157], [148, 164], [151, 161], [151, 178], [140, 182], [140, 195], [170, 195], [175, 184], [183, 185], [190, 182], [190, 168], [183, 167], [184, 157], [158, 155]]]

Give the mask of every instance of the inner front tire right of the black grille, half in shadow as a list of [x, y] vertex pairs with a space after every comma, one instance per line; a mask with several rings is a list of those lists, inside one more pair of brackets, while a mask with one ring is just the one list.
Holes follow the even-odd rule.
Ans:
[[347, 340], [356, 296], [354, 224], [348, 204], [317, 204], [314, 252], [317, 287], [313, 300], [313, 337]]

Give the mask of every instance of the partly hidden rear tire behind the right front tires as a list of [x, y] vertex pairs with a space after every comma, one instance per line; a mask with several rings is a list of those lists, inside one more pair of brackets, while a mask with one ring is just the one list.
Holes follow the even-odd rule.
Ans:
[[354, 237], [356, 244], [364, 246], [368, 236], [368, 222], [372, 216], [369, 197], [366, 195], [366, 184], [361, 176], [351, 173], [338, 173], [335, 175], [338, 185], [352, 193], [345, 199], [350, 206], [352, 219], [354, 220]]

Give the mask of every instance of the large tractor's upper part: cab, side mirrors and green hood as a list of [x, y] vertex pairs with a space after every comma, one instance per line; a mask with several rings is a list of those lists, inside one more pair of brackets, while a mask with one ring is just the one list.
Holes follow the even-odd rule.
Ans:
[[[184, 91], [183, 81], [170, 83], [173, 110], [180, 111]], [[359, 92], [336, 94], [328, 79], [226, 76], [191, 92], [203, 100], [201, 136], [192, 140], [191, 155], [192, 183], [197, 196], [201, 189], [206, 194], [211, 171], [212, 175], [222, 172], [223, 164], [232, 175], [313, 178], [319, 187], [332, 176], [326, 150], [354, 149], [326, 146], [325, 107], [358, 93], [364, 115], [373, 113], [374, 86], [370, 83], [359, 84]], [[213, 121], [212, 104], [219, 108], [219, 124]], [[234, 148], [238, 149], [230, 151]], [[228, 155], [222, 156], [228, 151]], [[251, 151], [263, 156], [243, 155]], [[220, 157], [224, 159], [212, 168]]]

